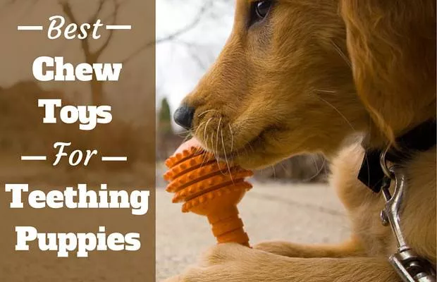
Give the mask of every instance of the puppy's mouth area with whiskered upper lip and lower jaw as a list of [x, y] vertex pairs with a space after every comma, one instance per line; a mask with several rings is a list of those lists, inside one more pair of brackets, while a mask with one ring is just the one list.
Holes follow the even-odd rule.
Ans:
[[191, 142], [228, 164], [245, 168], [269, 166], [278, 159], [272, 158], [272, 154], [278, 154], [275, 140], [289, 129], [284, 123], [264, 120], [254, 114], [230, 118], [210, 111], [195, 119]]

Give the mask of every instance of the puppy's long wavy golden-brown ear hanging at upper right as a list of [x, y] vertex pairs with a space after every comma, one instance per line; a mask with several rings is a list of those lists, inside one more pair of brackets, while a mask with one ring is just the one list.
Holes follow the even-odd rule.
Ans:
[[436, 116], [436, 1], [341, 0], [359, 97], [386, 139]]

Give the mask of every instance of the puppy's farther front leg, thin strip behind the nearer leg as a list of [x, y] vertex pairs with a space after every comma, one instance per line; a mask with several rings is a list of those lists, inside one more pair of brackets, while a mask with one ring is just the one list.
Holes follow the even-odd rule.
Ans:
[[255, 245], [254, 249], [285, 257], [356, 257], [365, 255], [361, 244], [355, 239], [338, 245], [301, 245], [283, 241], [268, 241]]

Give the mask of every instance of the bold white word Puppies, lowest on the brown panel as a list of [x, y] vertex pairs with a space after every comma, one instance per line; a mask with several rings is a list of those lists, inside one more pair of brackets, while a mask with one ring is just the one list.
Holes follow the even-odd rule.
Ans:
[[99, 226], [99, 233], [39, 233], [32, 226], [16, 226], [17, 251], [28, 251], [29, 243], [37, 240], [42, 251], [58, 251], [57, 257], [68, 257], [69, 252], [76, 251], [77, 257], [88, 257], [88, 252], [97, 251], [137, 251], [140, 250], [140, 234], [111, 233], [106, 235], [104, 226]]

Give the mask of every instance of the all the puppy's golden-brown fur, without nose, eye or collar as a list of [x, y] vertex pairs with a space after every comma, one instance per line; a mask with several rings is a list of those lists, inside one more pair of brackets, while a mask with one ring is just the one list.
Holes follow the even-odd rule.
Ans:
[[[352, 238], [217, 245], [169, 281], [400, 281], [387, 260], [396, 246], [379, 219], [383, 199], [357, 180], [363, 149], [345, 144], [359, 133], [383, 148], [436, 118], [435, 1], [278, 0], [248, 27], [251, 2], [237, 1], [226, 47], [185, 99], [196, 109], [195, 136], [247, 168], [326, 154]], [[436, 148], [405, 171], [402, 230], [436, 264]]]

